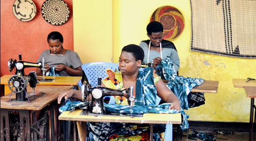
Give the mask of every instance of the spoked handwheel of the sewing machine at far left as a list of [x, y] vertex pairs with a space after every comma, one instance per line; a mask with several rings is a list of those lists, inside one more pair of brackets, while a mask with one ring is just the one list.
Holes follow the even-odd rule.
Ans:
[[[12, 85], [11, 85], [12, 84]], [[25, 79], [19, 75], [13, 75], [8, 80], [8, 86], [14, 93], [20, 93], [27, 87]], [[15, 91], [16, 90], [16, 91]]]

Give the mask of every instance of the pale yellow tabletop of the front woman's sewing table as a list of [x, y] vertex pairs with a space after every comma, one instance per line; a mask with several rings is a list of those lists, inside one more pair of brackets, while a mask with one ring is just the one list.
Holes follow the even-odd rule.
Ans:
[[144, 114], [143, 117], [121, 117], [121, 116], [92, 116], [80, 115], [82, 109], [77, 109], [74, 112], [64, 111], [59, 120], [73, 121], [91, 121], [91, 122], [123, 122], [123, 123], [157, 123], [157, 124], [181, 124], [181, 114]]

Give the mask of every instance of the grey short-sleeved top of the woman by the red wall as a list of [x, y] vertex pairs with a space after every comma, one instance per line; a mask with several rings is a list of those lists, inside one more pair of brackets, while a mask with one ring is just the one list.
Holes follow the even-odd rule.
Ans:
[[[59, 64], [66, 65], [66, 66], [68, 66], [70, 68], [74, 68], [74, 69], [83, 65], [78, 54], [72, 50], [67, 50], [64, 55], [50, 54], [50, 50], [44, 50], [41, 53], [37, 62], [41, 62], [43, 59], [44, 59], [45, 64], [51, 66], [52, 68]], [[71, 76], [70, 74], [68, 74], [65, 71], [60, 71], [59, 73], [62, 76]]]

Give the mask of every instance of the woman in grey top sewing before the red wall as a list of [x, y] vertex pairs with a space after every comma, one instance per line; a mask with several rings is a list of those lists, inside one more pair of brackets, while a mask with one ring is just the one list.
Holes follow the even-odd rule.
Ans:
[[[83, 63], [77, 53], [63, 48], [63, 36], [59, 32], [51, 32], [47, 37], [49, 50], [41, 53], [37, 62], [45, 61], [47, 71], [54, 71], [59, 76], [82, 76]], [[53, 69], [53, 70], [51, 70]], [[37, 75], [42, 75], [37, 68]]]

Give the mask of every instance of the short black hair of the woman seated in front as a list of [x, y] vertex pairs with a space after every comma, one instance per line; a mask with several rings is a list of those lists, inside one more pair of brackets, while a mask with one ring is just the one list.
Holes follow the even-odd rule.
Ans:
[[126, 51], [127, 53], [132, 53], [136, 61], [138, 60], [143, 61], [144, 59], [144, 51], [142, 50], [141, 47], [139, 47], [136, 44], [129, 44], [123, 47], [122, 51]]

